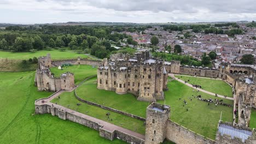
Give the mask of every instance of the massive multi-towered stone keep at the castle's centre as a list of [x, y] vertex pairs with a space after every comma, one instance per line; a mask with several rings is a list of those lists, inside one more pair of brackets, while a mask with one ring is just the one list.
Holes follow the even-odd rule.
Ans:
[[130, 57], [121, 53], [105, 58], [97, 69], [97, 88], [118, 94], [132, 93], [138, 100], [164, 99], [167, 72], [164, 61], [153, 59], [149, 51]]

